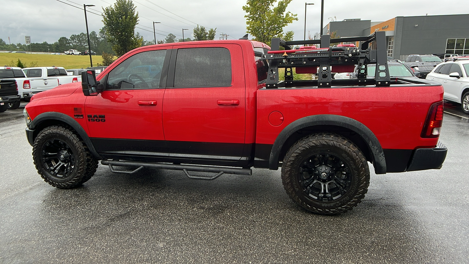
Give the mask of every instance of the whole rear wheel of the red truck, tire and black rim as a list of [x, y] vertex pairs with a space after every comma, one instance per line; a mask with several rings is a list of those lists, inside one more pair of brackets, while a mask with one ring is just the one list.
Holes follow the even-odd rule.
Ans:
[[282, 182], [290, 198], [306, 210], [332, 215], [361, 202], [370, 185], [363, 153], [333, 133], [298, 140], [282, 163]]

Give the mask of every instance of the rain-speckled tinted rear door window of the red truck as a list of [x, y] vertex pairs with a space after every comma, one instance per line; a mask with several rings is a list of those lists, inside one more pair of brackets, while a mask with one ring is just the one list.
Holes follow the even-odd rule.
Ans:
[[231, 54], [224, 47], [177, 50], [174, 87], [223, 87], [231, 85]]

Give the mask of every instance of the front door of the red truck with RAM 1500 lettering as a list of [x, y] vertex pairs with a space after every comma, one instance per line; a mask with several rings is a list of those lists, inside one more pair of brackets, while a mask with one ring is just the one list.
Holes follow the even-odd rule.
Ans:
[[[105, 91], [87, 96], [85, 118], [104, 158], [167, 157], [161, 110], [169, 63], [167, 47], [136, 50], [101, 78]], [[166, 55], [168, 54], [168, 55]]]

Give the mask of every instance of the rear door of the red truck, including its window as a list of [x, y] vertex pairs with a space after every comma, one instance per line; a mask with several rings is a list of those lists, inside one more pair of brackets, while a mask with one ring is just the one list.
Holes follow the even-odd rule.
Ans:
[[170, 156], [192, 161], [247, 159], [245, 91], [239, 45], [174, 46], [163, 99]]

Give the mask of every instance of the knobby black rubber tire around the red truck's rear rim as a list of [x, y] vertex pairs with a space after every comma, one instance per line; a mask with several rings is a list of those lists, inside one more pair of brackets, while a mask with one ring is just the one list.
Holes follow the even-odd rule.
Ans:
[[[336, 200], [320, 202], [307, 193], [310, 189], [303, 190], [304, 185], [302, 187], [300, 183], [303, 177], [300, 173], [306, 173], [300, 172], [305, 171], [302, 166], [306, 165], [303, 163], [310, 162], [311, 157], [314, 158], [320, 153], [337, 156], [338, 160], [344, 163], [342, 166], [349, 168], [348, 189]], [[370, 185], [370, 171], [363, 153], [350, 140], [338, 134], [317, 133], [298, 140], [288, 150], [282, 163], [282, 182], [290, 198], [304, 209], [318, 214], [334, 215], [352, 209], [362, 201]]]

